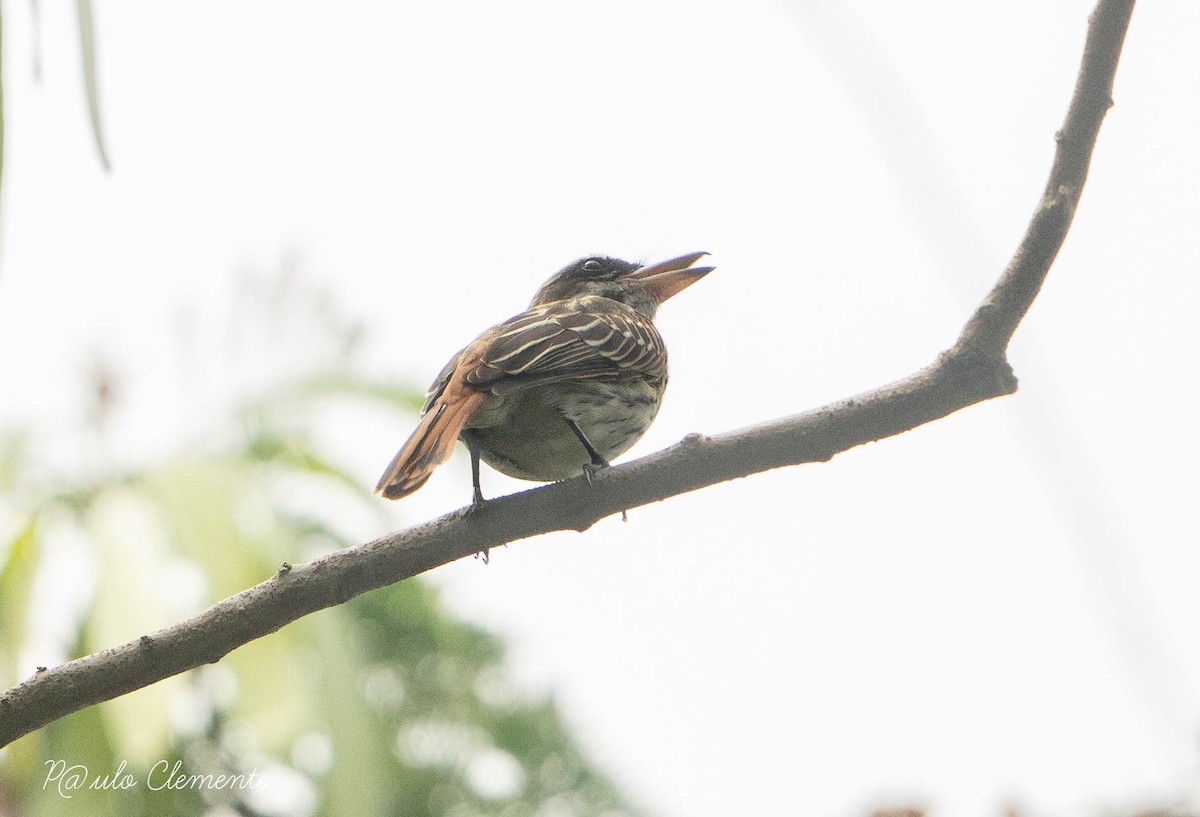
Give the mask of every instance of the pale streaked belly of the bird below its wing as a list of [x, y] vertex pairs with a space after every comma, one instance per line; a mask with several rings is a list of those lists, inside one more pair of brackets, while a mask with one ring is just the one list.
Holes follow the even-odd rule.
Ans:
[[565, 480], [578, 476], [592, 457], [564, 416], [611, 461], [646, 433], [661, 400], [662, 389], [650, 380], [551, 384], [496, 400], [468, 423], [463, 440], [469, 438], [484, 462], [509, 476]]

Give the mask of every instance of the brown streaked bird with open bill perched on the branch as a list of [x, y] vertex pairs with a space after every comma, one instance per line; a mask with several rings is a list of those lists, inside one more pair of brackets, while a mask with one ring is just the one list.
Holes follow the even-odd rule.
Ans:
[[695, 252], [638, 266], [581, 258], [556, 272], [529, 308], [492, 326], [438, 374], [416, 431], [376, 492], [413, 493], [455, 441], [470, 452], [474, 501], [479, 461], [522, 480], [550, 482], [626, 451], [649, 427], [667, 385], [667, 352], [654, 328], [662, 301], [712, 266]]

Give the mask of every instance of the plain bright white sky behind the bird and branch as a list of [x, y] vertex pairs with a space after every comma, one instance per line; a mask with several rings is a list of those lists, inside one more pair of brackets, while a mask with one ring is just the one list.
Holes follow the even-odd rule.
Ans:
[[[1019, 240], [1091, 10], [96, 0], [104, 175], [72, 12], [40, 5], [40, 85], [5, 6], [0, 422], [61, 468], [96, 354], [114, 450], [202, 428], [247, 376], [176, 371], [179, 324], [288, 256], [424, 386], [578, 256], [712, 252], [632, 455], [902, 377]], [[1198, 789], [1198, 32], [1195, 2], [1135, 11], [1016, 397], [434, 572], [656, 813]], [[370, 483], [408, 431], [326, 434]], [[458, 461], [396, 524], [468, 498]]]

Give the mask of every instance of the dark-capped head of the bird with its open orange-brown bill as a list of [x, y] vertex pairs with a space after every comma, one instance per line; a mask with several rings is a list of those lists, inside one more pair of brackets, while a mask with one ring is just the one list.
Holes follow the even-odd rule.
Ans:
[[606, 256], [581, 258], [551, 276], [534, 295], [530, 306], [600, 295], [653, 318], [662, 301], [713, 271], [712, 266], [692, 266], [707, 254], [694, 252], [642, 266]]

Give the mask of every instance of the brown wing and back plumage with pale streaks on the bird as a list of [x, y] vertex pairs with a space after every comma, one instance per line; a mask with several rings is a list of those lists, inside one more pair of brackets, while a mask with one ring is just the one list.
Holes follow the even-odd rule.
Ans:
[[456, 368], [467, 385], [505, 394], [622, 373], [666, 378], [667, 360], [649, 319], [624, 304], [584, 296], [522, 312], [488, 330], [451, 361], [444, 383]]

